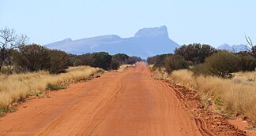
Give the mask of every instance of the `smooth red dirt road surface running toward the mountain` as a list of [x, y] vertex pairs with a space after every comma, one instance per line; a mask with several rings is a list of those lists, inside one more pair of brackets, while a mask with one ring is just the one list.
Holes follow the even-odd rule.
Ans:
[[0, 135], [201, 135], [174, 90], [142, 63], [49, 95], [0, 118]]

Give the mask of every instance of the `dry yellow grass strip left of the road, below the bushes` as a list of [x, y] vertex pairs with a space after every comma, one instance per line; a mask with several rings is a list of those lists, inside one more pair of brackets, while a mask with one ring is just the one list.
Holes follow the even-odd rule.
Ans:
[[0, 108], [20, 101], [30, 95], [42, 94], [47, 83], [73, 83], [86, 79], [100, 68], [88, 66], [70, 67], [66, 73], [51, 75], [49, 72], [28, 72], [24, 74], [0, 75]]

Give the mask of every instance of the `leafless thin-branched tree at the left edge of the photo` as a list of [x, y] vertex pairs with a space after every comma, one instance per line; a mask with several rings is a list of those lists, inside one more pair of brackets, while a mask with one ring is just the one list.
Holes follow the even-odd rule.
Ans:
[[6, 58], [11, 54], [12, 50], [24, 44], [27, 40], [25, 35], [17, 35], [13, 29], [0, 29], [0, 71]]

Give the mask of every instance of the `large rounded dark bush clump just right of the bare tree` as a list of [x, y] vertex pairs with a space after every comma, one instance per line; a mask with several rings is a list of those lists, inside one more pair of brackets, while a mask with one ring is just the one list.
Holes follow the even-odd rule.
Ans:
[[13, 52], [13, 63], [18, 71], [47, 70], [51, 74], [57, 74], [66, 71], [70, 65], [70, 57], [63, 51], [48, 50], [43, 46], [32, 44], [19, 46], [18, 51]]

